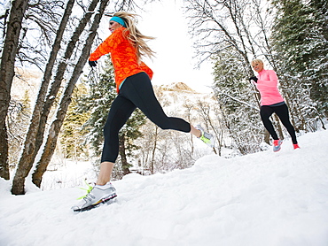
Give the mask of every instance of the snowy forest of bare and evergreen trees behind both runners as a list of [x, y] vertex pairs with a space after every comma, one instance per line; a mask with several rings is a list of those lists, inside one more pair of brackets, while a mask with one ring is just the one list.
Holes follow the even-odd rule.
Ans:
[[[0, 177], [12, 194], [25, 194], [25, 181], [40, 187], [51, 158], [92, 159], [98, 167], [106, 114], [116, 96], [110, 58], [89, 69], [90, 50], [101, 42], [101, 19], [113, 12], [139, 12], [153, 1], [13, 0], [0, 9]], [[160, 2], [160, 0], [158, 0]], [[252, 59], [275, 70], [279, 89], [298, 134], [324, 128], [328, 116], [327, 1], [184, 0], [195, 63], [213, 65], [213, 93], [197, 96], [181, 88], [156, 88], [168, 114], [201, 123], [215, 135], [216, 155], [263, 150], [270, 144], [259, 115], [260, 96], [248, 78]], [[14, 80], [34, 66], [41, 74], [35, 102], [13, 96]], [[92, 76], [90, 76], [90, 74]], [[182, 100], [182, 98], [184, 98]], [[174, 108], [172, 100], [180, 104]], [[279, 137], [287, 134], [273, 117]], [[134, 165], [164, 173], [194, 164], [202, 153], [190, 135], [163, 131], [135, 111], [120, 133], [114, 178]], [[204, 153], [203, 153], [204, 154]], [[14, 171], [14, 172], [13, 172]]]

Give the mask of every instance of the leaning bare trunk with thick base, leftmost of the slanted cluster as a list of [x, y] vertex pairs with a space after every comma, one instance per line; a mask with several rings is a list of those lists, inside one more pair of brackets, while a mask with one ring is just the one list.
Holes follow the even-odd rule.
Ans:
[[74, 0], [68, 1], [63, 18], [59, 25], [59, 30], [57, 32], [55, 41], [52, 45], [50, 58], [45, 67], [45, 72], [43, 74], [43, 82], [41, 84], [39, 94], [36, 99], [35, 109], [32, 114], [31, 123], [28, 127], [27, 136], [24, 143], [24, 149], [20, 157], [20, 162], [18, 164], [15, 177], [12, 181], [13, 195], [23, 195], [25, 193], [24, 190], [25, 178], [27, 177], [27, 174], [29, 173], [29, 171], [33, 166], [35, 156], [37, 153], [37, 150], [35, 151], [35, 137], [37, 135], [37, 129], [40, 123], [41, 112], [44, 105], [44, 98], [48, 91], [48, 86], [51, 81], [52, 69], [53, 66], [55, 65], [55, 61], [60, 50], [60, 42], [62, 41], [65, 32], [65, 27], [72, 13], [73, 6], [74, 6]]

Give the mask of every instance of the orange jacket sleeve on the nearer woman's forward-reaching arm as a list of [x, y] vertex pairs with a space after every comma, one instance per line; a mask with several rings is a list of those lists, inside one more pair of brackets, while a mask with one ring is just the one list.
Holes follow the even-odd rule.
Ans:
[[98, 58], [101, 58], [105, 54], [108, 54], [112, 52], [112, 50], [116, 49], [116, 47], [124, 40], [122, 33], [123, 30], [124, 27], [116, 29], [112, 35], [107, 37], [104, 42], [100, 43], [98, 48], [91, 53], [89, 60], [97, 61]]

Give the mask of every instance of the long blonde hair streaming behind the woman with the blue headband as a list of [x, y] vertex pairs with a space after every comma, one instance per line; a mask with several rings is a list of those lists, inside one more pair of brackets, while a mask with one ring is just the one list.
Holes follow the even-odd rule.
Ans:
[[152, 58], [154, 51], [147, 45], [144, 39], [152, 40], [154, 37], [142, 35], [136, 27], [137, 14], [129, 12], [116, 12], [113, 16], [120, 17], [124, 20], [127, 29], [124, 32], [129, 31], [129, 42], [131, 42], [137, 48], [137, 59], [140, 61], [142, 57], [147, 56]]

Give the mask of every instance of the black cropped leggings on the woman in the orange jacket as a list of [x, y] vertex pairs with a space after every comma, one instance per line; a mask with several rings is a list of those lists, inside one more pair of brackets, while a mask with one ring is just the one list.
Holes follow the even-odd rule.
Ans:
[[105, 122], [105, 142], [101, 162], [115, 162], [119, 154], [119, 131], [136, 108], [161, 129], [174, 129], [189, 133], [191, 125], [184, 119], [168, 117], [158, 102], [152, 83], [146, 73], [129, 76], [113, 101]]

